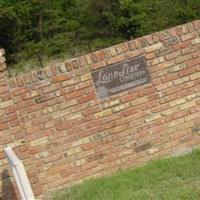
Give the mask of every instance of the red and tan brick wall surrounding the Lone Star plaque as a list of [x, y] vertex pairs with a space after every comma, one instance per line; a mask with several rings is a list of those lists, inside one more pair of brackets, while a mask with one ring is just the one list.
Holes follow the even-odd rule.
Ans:
[[[150, 82], [97, 98], [91, 72], [138, 55]], [[200, 145], [200, 20], [0, 77], [1, 169], [12, 146], [37, 197]]]

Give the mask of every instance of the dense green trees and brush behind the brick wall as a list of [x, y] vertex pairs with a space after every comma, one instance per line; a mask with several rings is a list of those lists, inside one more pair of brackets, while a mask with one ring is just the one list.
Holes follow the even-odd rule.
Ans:
[[0, 0], [9, 63], [73, 57], [200, 18], [200, 0]]

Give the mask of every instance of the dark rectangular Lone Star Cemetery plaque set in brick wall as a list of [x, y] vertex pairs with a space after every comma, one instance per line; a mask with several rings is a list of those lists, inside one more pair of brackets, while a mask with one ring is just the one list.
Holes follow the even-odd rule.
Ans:
[[144, 56], [130, 58], [94, 71], [92, 77], [98, 98], [106, 98], [149, 82]]

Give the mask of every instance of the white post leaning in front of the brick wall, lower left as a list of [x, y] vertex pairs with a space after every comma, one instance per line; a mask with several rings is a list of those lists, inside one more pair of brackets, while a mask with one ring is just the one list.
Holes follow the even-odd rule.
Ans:
[[35, 200], [23, 162], [19, 160], [11, 147], [6, 147], [4, 150], [12, 168], [22, 200]]

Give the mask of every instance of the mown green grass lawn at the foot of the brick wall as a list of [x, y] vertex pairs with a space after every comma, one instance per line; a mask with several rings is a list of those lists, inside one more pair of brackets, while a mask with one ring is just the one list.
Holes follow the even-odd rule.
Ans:
[[53, 200], [200, 200], [200, 150], [154, 161], [110, 177], [91, 179]]

